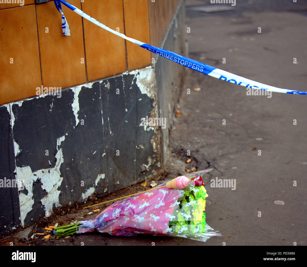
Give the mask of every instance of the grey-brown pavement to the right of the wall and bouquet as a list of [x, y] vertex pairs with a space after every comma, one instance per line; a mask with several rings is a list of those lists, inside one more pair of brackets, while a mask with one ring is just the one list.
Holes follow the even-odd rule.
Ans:
[[[187, 1], [193, 2], [206, 1]], [[288, 1], [283, 10], [284, 1], [278, 8], [270, 1], [260, 12], [262, 1], [254, 4], [256, 11], [252, 5], [244, 11], [246, 2], [237, 1], [242, 12], [188, 9], [189, 56], [261, 83], [306, 91], [306, 3], [298, 9]], [[205, 178], [206, 218], [224, 237], [204, 245], [306, 245], [307, 99], [247, 95], [244, 87], [192, 70], [185, 86], [170, 140], [174, 151], [191, 151], [198, 170], [214, 168]], [[235, 179], [236, 189], [212, 188], [216, 177]]]

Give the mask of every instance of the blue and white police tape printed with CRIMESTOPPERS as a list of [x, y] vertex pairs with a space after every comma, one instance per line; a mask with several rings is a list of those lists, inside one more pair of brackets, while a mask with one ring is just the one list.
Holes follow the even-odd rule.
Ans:
[[[70, 4], [70, 3], [68, 3], [64, 0], [54, 0], [56, 8], [62, 14], [62, 17], [64, 17], [64, 14], [63, 14], [63, 12], [60, 11], [61, 7], [59, 9], [61, 2], [65, 6], [67, 6], [69, 9], [71, 9], [72, 11], [76, 12], [77, 14], [84, 17], [85, 19], [91, 21], [95, 25], [107, 30], [108, 32], [114, 33], [115, 35], [122, 37], [122, 38], [126, 39], [127, 41], [130, 41], [134, 44], [137, 44], [138, 46], [145, 48], [145, 49], [149, 50], [150, 52], [153, 52], [153, 53], [155, 53], [159, 56], [162, 56], [166, 59], [172, 60], [173, 62], [176, 62], [178, 64], [184, 65], [185, 67], [188, 67], [190, 69], [196, 70], [198, 72], [202, 72], [204, 74], [215, 77], [217, 79], [221, 79], [221, 80], [224, 80], [224, 81], [227, 81], [227, 82], [230, 82], [230, 83], [235, 83], [235, 84], [238, 84], [238, 85], [241, 85], [241, 86], [244, 86], [244, 87], [253, 88], [253, 89], [258, 89], [258, 90], [263, 90], [263, 91], [272, 91], [272, 92], [278, 92], [278, 93], [286, 93], [286, 94], [307, 95], [307, 92], [304, 92], [304, 91], [282, 89], [282, 88], [266, 85], [266, 84], [263, 84], [263, 83], [258, 83], [258, 82], [255, 82], [253, 80], [246, 79], [244, 77], [232, 74], [230, 72], [225, 72], [225, 71], [220, 70], [218, 68], [214, 68], [214, 67], [209, 66], [207, 64], [204, 64], [204, 63], [198, 62], [196, 60], [187, 58], [185, 56], [178, 55], [174, 52], [171, 52], [171, 51], [168, 51], [168, 50], [165, 50], [165, 49], [161, 49], [161, 48], [157, 48], [157, 47], [154, 47], [150, 44], [146, 44], [146, 43], [140, 42], [138, 40], [135, 40], [133, 38], [126, 37], [126, 35], [119, 33], [115, 30], [112, 30], [109, 27], [107, 27], [106, 25], [103, 25], [101, 22], [99, 22], [99, 21], [95, 20], [94, 18], [92, 18], [91, 16], [85, 14], [82, 10], [76, 8], [72, 4]], [[64, 19], [65, 19], [65, 17], [64, 17]], [[65, 21], [66, 21], [66, 19], [65, 19]], [[63, 34], [64, 34], [64, 31], [63, 31]]]

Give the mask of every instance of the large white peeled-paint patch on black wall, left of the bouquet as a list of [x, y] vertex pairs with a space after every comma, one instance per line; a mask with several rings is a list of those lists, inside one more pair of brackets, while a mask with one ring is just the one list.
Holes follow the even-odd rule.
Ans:
[[37, 179], [41, 180], [41, 188], [47, 192], [47, 195], [41, 199], [41, 203], [45, 207], [46, 216], [52, 213], [52, 206], [55, 204], [57, 207], [59, 203], [60, 191], [57, 190], [63, 181], [61, 176], [60, 166], [64, 162], [62, 148], [59, 148], [61, 143], [65, 140], [65, 136], [56, 139], [56, 164], [52, 168], [41, 169], [32, 172], [30, 166], [16, 167], [16, 178], [24, 180], [27, 195], [23, 190], [19, 190], [19, 205], [20, 205], [20, 220], [21, 225], [24, 226], [27, 214], [32, 210], [34, 204], [33, 197], [33, 182]]

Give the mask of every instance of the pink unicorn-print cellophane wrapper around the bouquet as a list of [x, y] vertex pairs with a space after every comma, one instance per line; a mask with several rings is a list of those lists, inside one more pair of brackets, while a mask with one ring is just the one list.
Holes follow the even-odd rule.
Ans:
[[[195, 183], [192, 181], [190, 184]], [[200, 241], [221, 235], [210, 226], [206, 226], [206, 233], [201, 234], [174, 234], [172, 232], [172, 229], [169, 228], [169, 221], [174, 217], [172, 216], [174, 207], [178, 207], [178, 199], [182, 198], [184, 193], [185, 191], [181, 189], [164, 187], [117, 201], [94, 219], [79, 221], [83, 224], [79, 226], [78, 233], [99, 231], [111, 235], [167, 234]]]

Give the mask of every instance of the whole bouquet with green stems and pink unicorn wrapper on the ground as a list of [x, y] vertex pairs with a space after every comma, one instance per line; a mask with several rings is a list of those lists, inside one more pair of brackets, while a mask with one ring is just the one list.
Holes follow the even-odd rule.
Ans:
[[[120, 200], [94, 219], [55, 228], [58, 236], [92, 231], [111, 235], [170, 235], [206, 241], [221, 236], [206, 224], [206, 189], [200, 174], [179, 176], [170, 182]], [[66, 228], [65, 228], [66, 227]]]

